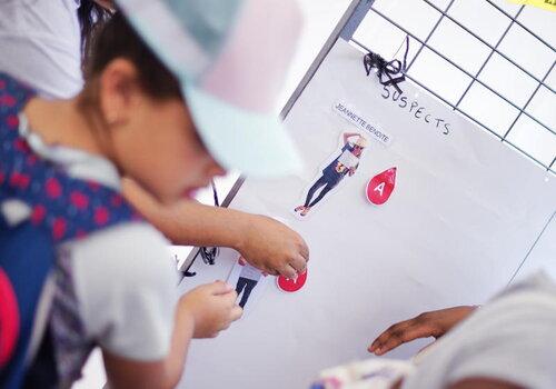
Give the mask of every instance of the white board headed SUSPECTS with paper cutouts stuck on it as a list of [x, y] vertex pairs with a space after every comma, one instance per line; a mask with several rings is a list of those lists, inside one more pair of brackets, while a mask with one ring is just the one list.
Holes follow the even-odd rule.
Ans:
[[[292, 295], [268, 286], [246, 319], [193, 341], [183, 388], [308, 388], [322, 368], [367, 358], [369, 341], [393, 322], [479, 303], [507, 285], [556, 210], [556, 178], [408, 82], [401, 88], [404, 108], [393, 89], [385, 99], [376, 77], [366, 77], [358, 50], [335, 44], [286, 119], [307, 169], [279, 181], [248, 179], [230, 206], [279, 217], [306, 238], [307, 285]], [[391, 141], [369, 137], [356, 174], [299, 220], [292, 208], [338, 138], [360, 130], [332, 110], [338, 102]], [[366, 183], [390, 167], [396, 189], [371, 206]], [[216, 266], [197, 260], [190, 270], [198, 276], [182, 289], [226, 279], [236, 259], [224, 249]]]

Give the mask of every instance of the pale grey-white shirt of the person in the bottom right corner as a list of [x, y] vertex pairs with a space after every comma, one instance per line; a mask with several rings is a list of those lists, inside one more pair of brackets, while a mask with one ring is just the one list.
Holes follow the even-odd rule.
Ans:
[[487, 377], [556, 388], [556, 285], [539, 273], [519, 282], [440, 338], [403, 389], [445, 388]]

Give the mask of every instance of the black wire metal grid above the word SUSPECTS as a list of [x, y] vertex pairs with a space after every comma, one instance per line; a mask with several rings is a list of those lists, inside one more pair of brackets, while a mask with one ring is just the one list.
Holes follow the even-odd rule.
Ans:
[[[518, 11], [516, 12], [516, 14], [515, 16], [510, 16], [505, 10], [503, 10], [500, 7], [498, 7], [496, 3], [494, 3], [492, 0], [485, 0], [488, 4], [490, 4], [497, 11], [499, 11], [502, 14], [504, 14], [506, 18], [508, 18], [508, 26], [506, 27], [505, 31], [503, 32], [503, 34], [500, 36], [500, 38], [498, 39], [498, 41], [496, 42], [496, 44], [493, 46], [493, 44], [488, 43], [487, 41], [485, 41], [483, 38], [480, 38], [477, 33], [473, 32], [469, 28], [467, 28], [459, 20], [457, 20], [456, 18], [454, 18], [453, 16], [450, 16], [448, 13], [449, 9], [451, 8], [451, 6], [454, 4], [454, 2], [456, 0], [450, 0], [448, 2], [448, 4], [446, 6], [445, 9], [440, 9], [439, 7], [437, 7], [436, 4], [434, 4], [433, 2], [430, 2], [429, 0], [419, 0], [419, 1], [424, 2], [428, 7], [433, 8], [434, 10], [436, 10], [436, 11], [438, 11], [440, 13], [440, 17], [438, 18], [438, 20], [436, 21], [436, 23], [434, 24], [434, 27], [431, 28], [431, 30], [429, 31], [429, 33], [427, 34], [427, 37], [426, 37], [425, 40], [419, 39], [416, 34], [411, 33], [407, 28], [405, 28], [404, 26], [400, 26], [398, 22], [391, 20], [391, 18], [389, 18], [388, 16], [386, 16], [384, 12], [377, 10], [374, 7], [374, 2], [375, 2], [374, 0], [363, 0], [363, 1], [359, 1], [360, 4], [365, 3], [365, 7], [359, 7], [358, 8], [358, 12], [360, 12], [360, 14], [357, 16], [357, 20], [360, 23], [360, 21], [363, 21], [363, 19], [365, 18], [366, 13], [368, 11], [370, 11], [370, 12], [379, 16], [380, 18], [383, 18], [384, 20], [386, 20], [387, 22], [389, 22], [391, 26], [396, 27], [400, 31], [403, 31], [406, 36], [408, 36], [411, 39], [414, 39], [415, 41], [419, 42], [421, 46], [419, 47], [419, 49], [417, 50], [417, 53], [411, 59], [411, 61], [409, 62], [409, 64], [407, 66], [407, 69], [406, 69], [406, 78], [408, 80], [410, 80], [411, 82], [414, 82], [415, 84], [417, 84], [419, 88], [426, 90], [430, 94], [435, 96], [437, 99], [439, 99], [440, 101], [443, 101], [445, 104], [449, 106], [453, 110], [459, 112], [460, 114], [463, 114], [467, 119], [471, 120], [473, 122], [475, 122], [476, 124], [478, 124], [480, 128], [483, 128], [486, 131], [490, 132], [493, 136], [495, 136], [496, 138], [498, 138], [502, 142], [505, 142], [505, 143], [509, 144], [510, 147], [513, 147], [514, 149], [516, 149], [517, 151], [524, 153], [525, 156], [527, 156], [528, 158], [530, 158], [532, 160], [534, 160], [536, 163], [538, 163], [542, 167], [544, 167], [547, 171], [556, 173], [556, 150], [555, 150], [555, 156], [554, 156], [552, 162], [549, 164], [546, 164], [546, 163], [539, 161], [537, 158], [533, 157], [527, 151], [523, 150], [517, 144], [514, 144], [512, 141], [509, 141], [507, 139], [508, 134], [514, 129], [514, 127], [517, 123], [518, 119], [523, 114], [526, 116], [526, 117], [528, 117], [529, 119], [532, 119], [537, 124], [539, 124], [545, 130], [547, 130], [548, 132], [550, 132], [553, 136], [556, 137], [556, 130], [555, 129], [550, 128], [548, 124], [544, 123], [542, 120], [539, 120], [538, 118], [536, 118], [535, 116], [533, 116], [533, 114], [530, 114], [529, 112], [526, 111], [527, 107], [529, 106], [530, 101], [533, 101], [533, 99], [535, 98], [535, 96], [538, 92], [538, 90], [540, 89], [540, 87], [545, 87], [548, 91], [550, 91], [552, 93], [556, 94], [556, 91], [550, 86], [548, 86], [546, 83], [547, 77], [550, 74], [550, 72], [553, 71], [553, 69], [556, 66], [556, 60], [553, 61], [552, 66], [548, 68], [548, 71], [545, 73], [545, 76], [542, 79], [539, 79], [536, 76], [532, 74], [528, 70], [524, 69], [523, 66], [520, 66], [516, 61], [514, 61], [510, 58], [508, 58], [508, 56], [506, 56], [504, 52], [502, 52], [502, 51], [498, 50], [499, 44], [506, 38], [506, 36], [507, 36], [508, 31], [510, 30], [513, 24], [517, 24], [520, 28], [523, 28], [526, 32], [528, 32], [530, 36], [533, 36], [535, 39], [537, 39], [540, 43], [543, 43], [544, 46], [546, 46], [547, 48], [549, 48], [550, 50], [553, 50], [553, 51], [556, 52], [556, 49], [552, 44], [549, 44], [548, 42], [546, 42], [543, 38], [540, 38], [538, 34], [534, 33], [529, 28], [527, 28], [524, 23], [522, 23], [519, 20], [517, 20], [518, 17], [519, 17], [519, 14], [524, 10], [525, 6], [520, 6], [519, 9], [518, 9]], [[363, 14], [363, 13], [365, 13], [365, 14]], [[431, 46], [428, 44], [428, 41], [430, 40], [430, 38], [433, 37], [433, 34], [436, 32], [438, 26], [440, 24], [440, 22], [444, 19], [450, 20], [456, 26], [458, 26], [459, 28], [461, 28], [466, 33], [470, 34], [471, 37], [474, 37], [475, 39], [477, 39], [483, 44], [485, 44], [486, 47], [489, 48], [489, 50], [490, 50], [489, 54], [485, 58], [485, 61], [480, 64], [478, 71], [475, 74], [473, 74], [471, 72], [465, 70], [460, 64], [456, 63], [454, 60], [447, 58], [445, 54], [443, 54], [441, 52], [439, 52], [437, 49], [435, 49], [435, 48], [433, 48]], [[344, 34], [344, 39], [351, 41], [353, 43], [359, 46], [361, 49], [364, 49], [366, 51], [370, 51], [365, 44], [363, 44], [358, 40], [354, 39], [353, 33], [355, 32], [355, 30], [356, 30], [356, 28], [354, 29], [354, 26], [351, 26], [349, 33]], [[415, 61], [417, 60], [417, 58], [419, 57], [419, 54], [423, 52], [424, 48], [427, 48], [428, 50], [430, 50], [431, 52], [434, 52], [436, 56], [438, 56], [439, 58], [441, 58], [444, 61], [448, 62], [449, 64], [451, 64], [453, 67], [455, 67], [456, 69], [458, 69], [460, 72], [463, 72], [464, 74], [466, 74], [467, 77], [470, 78], [469, 84], [464, 90], [463, 94], [459, 97], [459, 99], [457, 100], [456, 103], [449, 102], [446, 98], [444, 98], [440, 94], [438, 94], [437, 92], [433, 91], [430, 88], [428, 88], [426, 84], [424, 84], [423, 82], [420, 82], [419, 80], [417, 80], [415, 77], [411, 77], [410, 74], [408, 74], [410, 68], [413, 67], [413, 64], [415, 63]], [[536, 86], [535, 90], [528, 97], [527, 101], [525, 102], [525, 104], [523, 107], [517, 106], [510, 99], [506, 98], [500, 92], [498, 92], [494, 88], [492, 88], [488, 83], [484, 82], [483, 80], [480, 80], [478, 78], [480, 76], [480, 73], [483, 72], [483, 70], [485, 69], [485, 67], [487, 66], [487, 63], [489, 62], [489, 60], [493, 58], [494, 53], [499, 54], [502, 58], [504, 58], [505, 60], [507, 60], [509, 63], [512, 63], [513, 66], [515, 66], [517, 69], [519, 69], [525, 74], [527, 74], [529, 78], [532, 78], [535, 82], [537, 82], [537, 86]], [[504, 136], [499, 136], [496, 131], [494, 131], [487, 124], [485, 124], [479, 119], [475, 118], [473, 114], [470, 114], [469, 112], [466, 112], [465, 110], [463, 110], [459, 107], [460, 103], [461, 103], [461, 101], [467, 96], [468, 91], [471, 89], [471, 87], [473, 87], [474, 83], [478, 83], [478, 84], [483, 86], [485, 89], [487, 89], [490, 92], [495, 93], [498, 98], [500, 98], [502, 100], [504, 100], [505, 102], [507, 102], [508, 104], [510, 104], [513, 108], [515, 108], [518, 111], [516, 118], [513, 120], [513, 122], [509, 126], [509, 128], [505, 131]]]

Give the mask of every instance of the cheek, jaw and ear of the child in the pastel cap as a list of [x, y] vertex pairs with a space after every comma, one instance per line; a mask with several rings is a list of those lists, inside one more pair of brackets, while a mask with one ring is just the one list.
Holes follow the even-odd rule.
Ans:
[[[127, 70], [122, 67], [121, 71]], [[105, 117], [109, 121], [116, 111], [119, 118], [109, 126], [109, 158], [163, 203], [190, 198], [226, 171], [202, 144], [183, 101], [151, 98], [133, 81], [133, 74], [131, 69], [129, 74], [112, 74], [116, 81], [109, 77], [100, 81]]]

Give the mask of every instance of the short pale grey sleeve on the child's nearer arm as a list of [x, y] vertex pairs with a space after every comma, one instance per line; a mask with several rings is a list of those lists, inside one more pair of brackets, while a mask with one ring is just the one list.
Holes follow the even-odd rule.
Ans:
[[147, 223], [128, 223], [73, 242], [71, 255], [87, 336], [120, 357], [165, 358], [178, 299], [166, 239]]

